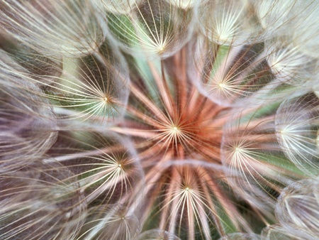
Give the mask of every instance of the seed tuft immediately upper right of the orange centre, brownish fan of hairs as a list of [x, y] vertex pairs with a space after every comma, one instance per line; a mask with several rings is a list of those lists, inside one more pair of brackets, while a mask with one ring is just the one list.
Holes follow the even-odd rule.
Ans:
[[248, 98], [275, 99], [272, 92], [280, 83], [269, 71], [262, 49], [259, 44], [228, 47], [201, 43], [198, 58], [204, 62], [196, 63], [201, 80], [196, 77], [194, 83], [201, 93], [224, 106], [240, 106]]

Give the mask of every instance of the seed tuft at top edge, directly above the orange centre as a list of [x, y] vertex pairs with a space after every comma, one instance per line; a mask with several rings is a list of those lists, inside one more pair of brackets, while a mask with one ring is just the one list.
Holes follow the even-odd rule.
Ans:
[[108, 14], [108, 27], [121, 47], [130, 54], [160, 55], [177, 53], [193, 30], [192, 9], [177, 9], [166, 1], [135, 2], [128, 16]]

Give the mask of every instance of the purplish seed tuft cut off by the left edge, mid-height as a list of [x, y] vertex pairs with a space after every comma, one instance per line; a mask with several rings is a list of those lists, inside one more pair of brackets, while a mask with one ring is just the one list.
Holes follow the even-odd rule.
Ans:
[[[0, 70], [1, 172], [21, 168], [45, 153], [57, 137], [57, 121], [42, 91], [11, 72], [5, 55]], [[8, 63], [8, 65], [5, 65]], [[24, 157], [23, 157], [24, 156]]]

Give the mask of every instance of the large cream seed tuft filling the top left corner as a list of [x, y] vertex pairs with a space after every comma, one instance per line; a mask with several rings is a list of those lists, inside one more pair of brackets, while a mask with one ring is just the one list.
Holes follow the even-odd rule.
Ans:
[[9, 34], [44, 55], [79, 57], [103, 43], [90, 1], [2, 1], [0, 13]]

